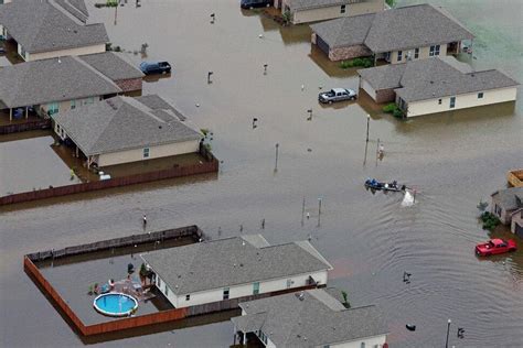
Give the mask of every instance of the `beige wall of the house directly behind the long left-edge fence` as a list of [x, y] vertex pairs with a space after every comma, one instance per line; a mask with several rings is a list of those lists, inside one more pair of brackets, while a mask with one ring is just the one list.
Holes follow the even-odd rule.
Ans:
[[198, 152], [200, 149], [199, 140], [191, 140], [173, 144], [166, 144], [149, 148], [149, 157], [143, 159], [143, 149], [127, 150], [120, 152], [100, 154], [98, 166], [107, 166], [120, 163], [152, 160], [166, 156], [173, 156], [183, 153]]

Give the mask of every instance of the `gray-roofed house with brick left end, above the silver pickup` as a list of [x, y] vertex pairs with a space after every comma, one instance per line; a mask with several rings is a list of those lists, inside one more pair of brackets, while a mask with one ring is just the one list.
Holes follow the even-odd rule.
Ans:
[[331, 61], [374, 56], [397, 64], [458, 54], [474, 35], [431, 4], [341, 18], [311, 25], [312, 43]]

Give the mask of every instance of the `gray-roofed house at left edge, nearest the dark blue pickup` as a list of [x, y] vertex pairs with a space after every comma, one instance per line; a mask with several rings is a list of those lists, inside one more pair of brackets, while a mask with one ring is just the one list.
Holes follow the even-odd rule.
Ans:
[[103, 98], [141, 90], [143, 74], [121, 55], [104, 52], [25, 62], [0, 69], [0, 110], [35, 109], [47, 117]]

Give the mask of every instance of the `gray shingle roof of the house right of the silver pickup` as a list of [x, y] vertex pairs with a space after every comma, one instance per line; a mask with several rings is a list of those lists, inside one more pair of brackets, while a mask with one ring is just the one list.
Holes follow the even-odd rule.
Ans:
[[468, 69], [462, 67], [461, 63], [452, 62], [452, 59], [456, 61], [453, 57], [434, 57], [360, 69], [357, 73], [374, 89], [395, 88], [396, 95], [405, 101], [434, 99], [519, 85], [495, 69], [465, 74], [462, 72]]

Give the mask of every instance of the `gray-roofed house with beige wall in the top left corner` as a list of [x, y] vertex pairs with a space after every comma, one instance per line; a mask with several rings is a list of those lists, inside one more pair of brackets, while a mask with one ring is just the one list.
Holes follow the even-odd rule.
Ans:
[[0, 34], [25, 62], [105, 52], [105, 25], [87, 19], [84, 0], [17, 0], [0, 4]]

